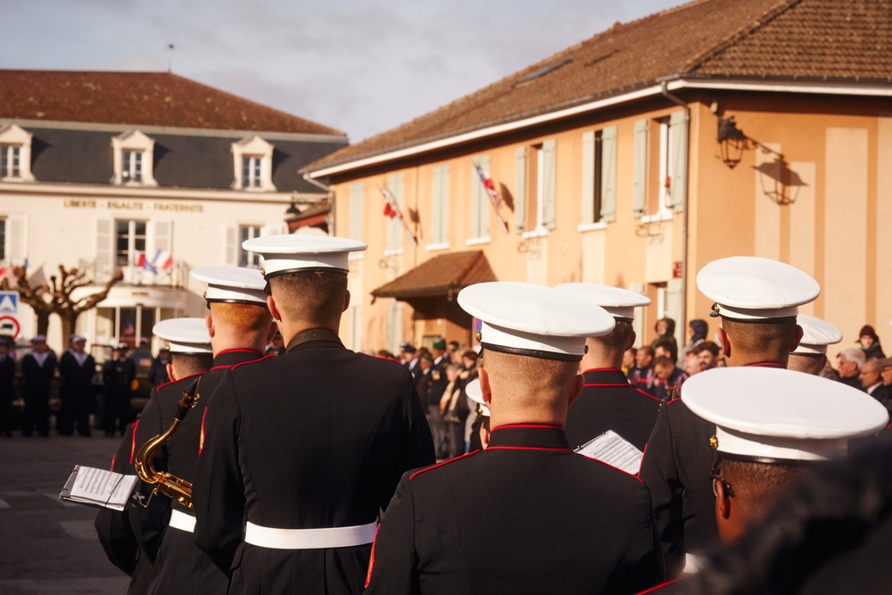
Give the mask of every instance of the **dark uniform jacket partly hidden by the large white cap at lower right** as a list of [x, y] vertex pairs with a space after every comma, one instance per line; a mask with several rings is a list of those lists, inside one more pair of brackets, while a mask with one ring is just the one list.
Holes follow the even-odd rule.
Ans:
[[720, 542], [708, 476], [715, 462], [715, 450], [709, 445], [714, 435], [715, 424], [695, 415], [681, 399], [669, 401], [657, 416], [641, 462], [640, 477], [654, 500], [670, 577], [681, 572], [686, 552], [703, 555]]

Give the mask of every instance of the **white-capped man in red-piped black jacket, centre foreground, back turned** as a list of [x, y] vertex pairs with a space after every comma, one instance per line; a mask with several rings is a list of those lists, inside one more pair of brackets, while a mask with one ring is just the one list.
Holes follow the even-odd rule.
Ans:
[[[525, 283], [471, 285], [458, 304], [483, 322], [489, 443], [403, 475], [367, 593], [632, 593], [660, 583], [647, 487], [574, 453], [564, 434], [585, 339], [608, 333], [613, 317]], [[483, 504], [479, 514], [469, 501]]]

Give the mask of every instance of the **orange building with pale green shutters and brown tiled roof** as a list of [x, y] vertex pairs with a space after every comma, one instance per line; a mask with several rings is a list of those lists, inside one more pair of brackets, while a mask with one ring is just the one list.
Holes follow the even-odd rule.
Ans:
[[[310, 164], [333, 186], [335, 234], [369, 245], [342, 335], [470, 344], [462, 286], [584, 281], [647, 294], [639, 341], [669, 317], [681, 344], [690, 319], [717, 324], [698, 270], [739, 254], [815, 277], [801, 310], [847, 338], [889, 335], [889, 9], [685, 4]], [[382, 214], [390, 196], [402, 219]]]

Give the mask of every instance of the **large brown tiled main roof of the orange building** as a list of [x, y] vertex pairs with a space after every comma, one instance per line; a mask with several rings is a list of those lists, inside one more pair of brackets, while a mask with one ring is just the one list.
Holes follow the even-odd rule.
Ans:
[[892, 82], [892, 0], [695, 0], [617, 23], [307, 169], [622, 95], [677, 74]]

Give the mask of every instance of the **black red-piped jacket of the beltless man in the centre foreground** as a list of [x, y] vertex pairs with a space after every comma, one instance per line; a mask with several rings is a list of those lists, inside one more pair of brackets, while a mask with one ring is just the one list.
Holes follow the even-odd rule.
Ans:
[[662, 580], [644, 483], [575, 454], [558, 426], [517, 425], [403, 476], [366, 593], [635, 593]]

